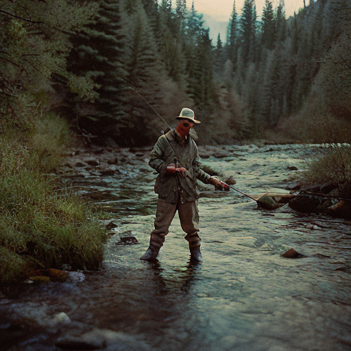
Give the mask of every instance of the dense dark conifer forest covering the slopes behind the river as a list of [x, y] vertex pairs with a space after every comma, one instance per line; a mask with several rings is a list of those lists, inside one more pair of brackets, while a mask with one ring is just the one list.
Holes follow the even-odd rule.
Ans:
[[3, 0], [1, 128], [46, 108], [87, 140], [147, 145], [167, 128], [150, 106], [171, 125], [189, 106], [199, 143], [350, 141], [350, 0], [288, 19], [245, 0], [228, 20], [212, 43], [186, 0]]

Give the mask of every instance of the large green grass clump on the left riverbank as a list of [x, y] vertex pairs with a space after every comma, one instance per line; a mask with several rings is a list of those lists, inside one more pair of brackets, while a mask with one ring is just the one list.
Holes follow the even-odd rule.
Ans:
[[53, 115], [0, 136], [0, 283], [63, 264], [99, 268], [106, 233], [82, 199], [58, 191], [45, 175], [70, 138], [69, 126]]

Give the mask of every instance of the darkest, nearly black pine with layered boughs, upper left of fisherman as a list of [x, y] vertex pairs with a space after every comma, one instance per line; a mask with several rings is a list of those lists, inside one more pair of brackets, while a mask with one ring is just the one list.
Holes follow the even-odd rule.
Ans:
[[76, 106], [79, 125], [92, 133], [114, 135], [126, 117], [125, 36], [119, 3], [99, 0], [99, 5], [95, 23], [71, 38], [74, 49], [69, 69], [99, 85], [99, 98], [94, 104], [87, 101]]

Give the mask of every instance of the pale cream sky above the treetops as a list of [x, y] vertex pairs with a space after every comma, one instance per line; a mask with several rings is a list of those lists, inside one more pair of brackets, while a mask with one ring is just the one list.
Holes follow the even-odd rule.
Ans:
[[[229, 21], [232, 14], [234, 0], [187, 0], [186, 7], [191, 8], [194, 1], [195, 10], [202, 14], [208, 14], [217, 21]], [[274, 8], [276, 8], [279, 0], [273, 0]], [[306, 1], [307, 3], [307, 1]], [[308, 2], [309, 3], [309, 2]], [[240, 14], [243, 8], [244, 0], [235, 0], [235, 8]], [[261, 16], [265, 0], [256, 0], [257, 15]], [[295, 11], [304, 6], [304, 0], [285, 0], [285, 13], [287, 17], [292, 16]]]

